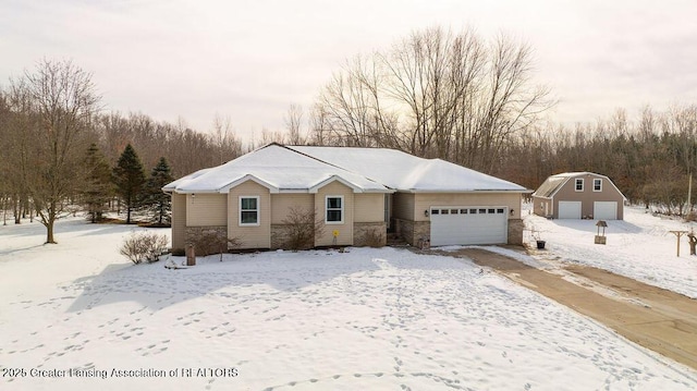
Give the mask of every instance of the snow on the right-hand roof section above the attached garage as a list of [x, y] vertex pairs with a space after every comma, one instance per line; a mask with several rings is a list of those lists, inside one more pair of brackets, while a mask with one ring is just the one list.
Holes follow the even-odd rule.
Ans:
[[291, 146], [289, 148], [402, 191], [527, 191], [515, 183], [441, 159], [421, 159], [395, 149], [311, 146]]

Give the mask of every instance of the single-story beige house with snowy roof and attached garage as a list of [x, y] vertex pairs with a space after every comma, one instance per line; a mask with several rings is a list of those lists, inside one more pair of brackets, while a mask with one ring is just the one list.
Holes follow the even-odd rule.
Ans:
[[282, 248], [291, 208], [315, 211], [316, 246], [365, 245], [390, 230], [417, 245], [523, 242], [517, 184], [440, 159], [386, 148], [270, 144], [162, 188], [172, 196], [172, 247], [215, 230], [242, 248]]

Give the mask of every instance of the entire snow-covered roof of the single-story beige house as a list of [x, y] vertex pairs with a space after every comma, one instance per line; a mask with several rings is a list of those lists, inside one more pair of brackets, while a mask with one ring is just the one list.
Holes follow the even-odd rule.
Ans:
[[355, 193], [528, 192], [501, 179], [440, 159], [421, 159], [387, 148], [290, 147], [256, 149], [222, 166], [199, 170], [162, 190], [175, 193], [228, 193], [246, 181], [271, 193], [316, 193], [339, 181]]

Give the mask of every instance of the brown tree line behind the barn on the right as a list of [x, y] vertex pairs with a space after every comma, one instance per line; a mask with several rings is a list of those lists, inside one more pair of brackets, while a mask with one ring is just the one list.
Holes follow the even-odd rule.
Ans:
[[693, 209], [697, 105], [646, 106], [633, 119], [617, 109], [596, 123], [530, 127], [506, 144], [491, 173], [536, 188], [548, 175], [590, 171], [609, 176], [633, 204], [683, 215]]

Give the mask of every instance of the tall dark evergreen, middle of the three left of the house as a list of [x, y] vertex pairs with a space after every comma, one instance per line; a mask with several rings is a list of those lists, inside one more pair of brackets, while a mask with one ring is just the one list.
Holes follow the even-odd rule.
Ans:
[[146, 179], [143, 172], [143, 163], [131, 144], [121, 154], [117, 167], [113, 169], [117, 193], [126, 204], [126, 224], [131, 223], [131, 211], [143, 200], [143, 191]]

